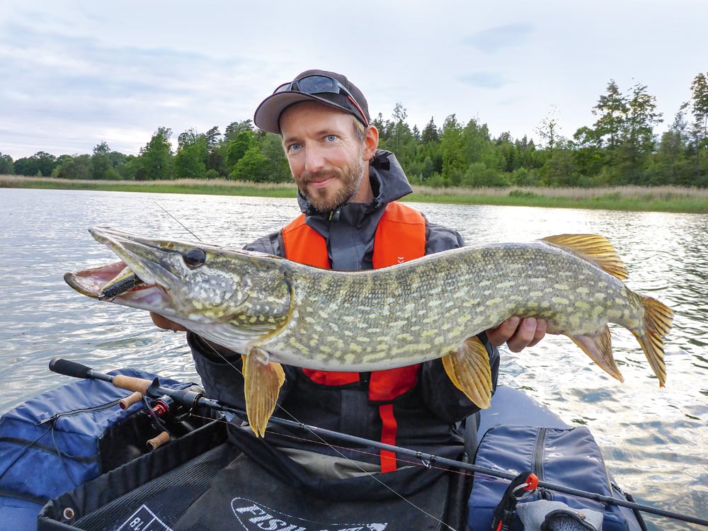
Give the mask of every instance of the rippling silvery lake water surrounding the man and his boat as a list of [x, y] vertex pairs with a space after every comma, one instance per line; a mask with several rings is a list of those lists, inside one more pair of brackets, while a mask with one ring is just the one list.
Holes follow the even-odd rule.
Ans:
[[[500, 379], [525, 389], [564, 421], [588, 426], [610, 472], [636, 501], [706, 518], [708, 216], [414, 206], [431, 221], [458, 229], [468, 244], [567, 232], [603, 234], [615, 244], [627, 262], [627, 285], [675, 312], [666, 388], [659, 389], [634, 336], [619, 327], [612, 329], [612, 341], [624, 384], [563, 336], [547, 337], [520, 354], [503, 350]], [[47, 370], [57, 355], [99, 372], [132, 366], [165, 377], [197, 377], [183, 334], [156, 329], [146, 312], [92, 301], [64, 284], [67, 271], [115, 261], [88, 227], [194, 239], [184, 226], [202, 241], [241, 247], [298, 212], [288, 199], [0, 189], [0, 411], [68, 383]], [[699, 528], [647, 520], [654, 531]]]

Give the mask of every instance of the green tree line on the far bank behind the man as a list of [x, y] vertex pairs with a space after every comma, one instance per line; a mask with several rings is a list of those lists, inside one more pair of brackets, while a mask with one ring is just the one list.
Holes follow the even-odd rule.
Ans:
[[[681, 185], [708, 187], [708, 74], [691, 84], [691, 99], [680, 106], [661, 135], [656, 98], [635, 84], [622, 91], [607, 83], [592, 113], [596, 121], [572, 137], [560, 134], [550, 113], [536, 129], [537, 140], [514, 139], [508, 132], [492, 137], [486, 124], [456, 115], [441, 127], [433, 118], [421, 131], [406, 123], [396, 104], [392, 118], [379, 113], [379, 147], [396, 154], [411, 183], [433, 187]], [[137, 156], [110, 150], [106, 142], [93, 153], [54, 156], [38, 152], [13, 160], [0, 153], [0, 174], [72, 179], [169, 180], [227, 178], [279, 183], [290, 181], [280, 137], [263, 132], [251, 120], [207, 132], [179, 134], [159, 127]]]

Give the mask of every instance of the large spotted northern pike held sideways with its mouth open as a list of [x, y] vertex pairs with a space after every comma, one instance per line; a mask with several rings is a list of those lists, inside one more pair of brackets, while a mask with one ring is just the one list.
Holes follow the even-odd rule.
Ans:
[[67, 273], [83, 295], [156, 312], [244, 355], [246, 413], [265, 433], [280, 364], [368, 372], [442, 358], [474, 403], [491, 400], [489, 357], [476, 334], [510, 316], [545, 319], [612, 377], [608, 323], [634, 333], [663, 387], [673, 313], [629, 290], [607, 239], [564, 234], [465, 246], [376, 270], [314, 268], [251, 251], [89, 229], [120, 262]]

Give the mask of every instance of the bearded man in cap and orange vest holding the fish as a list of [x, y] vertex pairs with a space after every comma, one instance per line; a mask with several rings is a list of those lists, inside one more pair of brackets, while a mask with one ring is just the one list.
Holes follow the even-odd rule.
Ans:
[[[394, 154], [377, 149], [378, 132], [370, 124], [367, 101], [345, 76], [302, 72], [265, 98], [254, 122], [281, 136], [303, 213], [246, 249], [319, 267], [360, 270], [462, 246], [457, 232], [396, 202], [411, 193], [411, 186]], [[184, 330], [161, 316], [153, 319], [163, 328]], [[480, 334], [495, 385], [496, 347], [506, 342], [510, 350], [522, 350], [537, 343], [545, 329], [544, 321], [513, 317]], [[207, 396], [243, 406], [239, 353], [191, 332], [188, 342]], [[455, 423], [478, 410], [450, 382], [440, 359], [372, 373], [284, 368], [281, 410], [276, 414], [435, 455], [459, 457]], [[291, 456], [299, 462], [327, 463], [331, 474], [362, 468], [391, 472], [401, 466], [390, 452], [371, 455], [315, 447], [316, 436], [303, 437], [280, 426], [269, 426], [265, 440], [295, 448]], [[319, 452], [317, 459], [303, 457], [313, 449]], [[329, 460], [321, 454], [329, 454]], [[353, 470], [342, 471], [345, 460], [356, 462]]]

